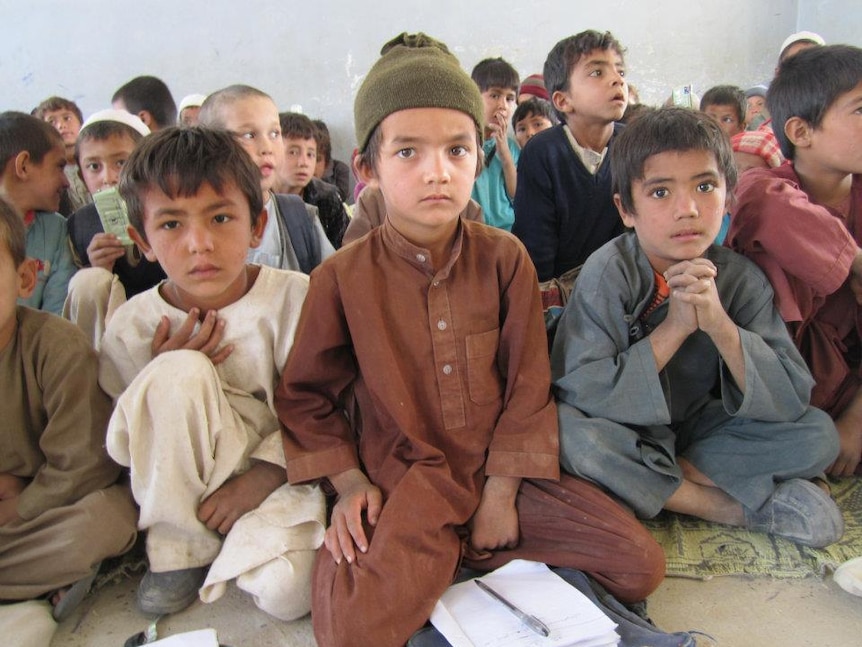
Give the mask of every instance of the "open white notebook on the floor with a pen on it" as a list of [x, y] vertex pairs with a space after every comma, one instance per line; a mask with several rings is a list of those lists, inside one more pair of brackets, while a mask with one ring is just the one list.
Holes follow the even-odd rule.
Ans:
[[551, 633], [546, 638], [530, 630], [468, 580], [450, 586], [431, 614], [432, 624], [453, 647], [615, 647], [619, 643], [616, 624], [544, 564], [514, 560], [481, 579], [544, 622]]

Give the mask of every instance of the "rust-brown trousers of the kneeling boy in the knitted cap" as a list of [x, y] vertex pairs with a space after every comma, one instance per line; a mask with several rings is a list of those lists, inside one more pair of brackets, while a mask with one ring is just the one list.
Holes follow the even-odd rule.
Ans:
[[[405, 501], [395, 499], [396, 506]], [[464, 542], [456, 529], [423, 515], [421, 499], [413, 499], [412, 509], [387, 510], [391, 502], [354, 564], [337, 565], [325, 547], [318, 552], [311, 613], [320, 647], [404, 645], [457, 573]], [[559, 483], [524, 480], [517, 506], [518, 547], [465, 558], [464, 566], [492, 570], [529, 559], [575, 568], [625, 602], [644, 599], [664, 578], [661, 547], [591, 483], [566, 474]]]

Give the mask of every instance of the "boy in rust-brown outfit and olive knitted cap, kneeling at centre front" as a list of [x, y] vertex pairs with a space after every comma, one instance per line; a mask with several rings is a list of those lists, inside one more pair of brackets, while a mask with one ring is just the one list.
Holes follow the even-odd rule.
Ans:
[[445, 46], [402, 34], [354, 112], [387, 217], [313, 274], [277, 392], [291, 482], [325, 477], [339, 497], [315, 564], [318, 644], [403, 645], [462, 550], [474, 568], [550, 561], [643, 598], [661, 549], [598, 489], [555, 482], [529, 257], [460, 217], [481, 169], [476, 86]]

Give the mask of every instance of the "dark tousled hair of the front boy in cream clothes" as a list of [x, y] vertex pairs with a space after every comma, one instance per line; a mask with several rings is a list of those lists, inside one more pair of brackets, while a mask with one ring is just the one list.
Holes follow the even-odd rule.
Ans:
[[120, 173], [120, 195], [129, 221], [146, 240], [143, 194], [158, 188], [165, 195], [187, 197], [209, 184], [221, 193], [235, 184], [248, 199], [251, 224], [263, 209], [260, 169], [226, 130], [171, 126], [143, 139]]

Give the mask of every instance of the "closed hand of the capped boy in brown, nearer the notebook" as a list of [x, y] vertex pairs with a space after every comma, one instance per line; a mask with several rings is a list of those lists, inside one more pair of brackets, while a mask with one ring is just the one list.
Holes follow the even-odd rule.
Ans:
[[478, 551], [514, 548], [520, 537], [515, 498], [521, 479], [489, 476], [482, 499], [467, 523], [470, 545]]

